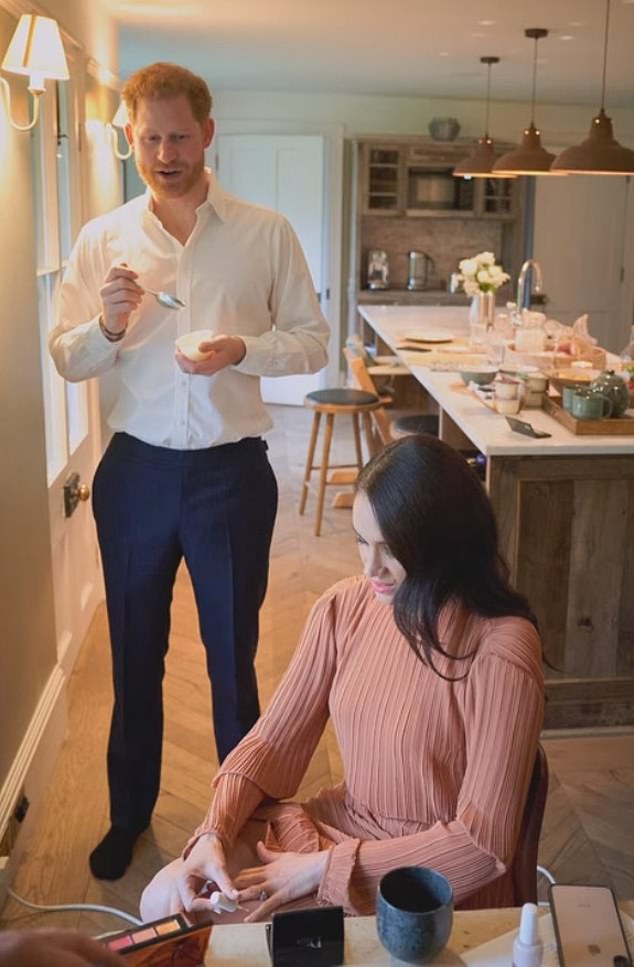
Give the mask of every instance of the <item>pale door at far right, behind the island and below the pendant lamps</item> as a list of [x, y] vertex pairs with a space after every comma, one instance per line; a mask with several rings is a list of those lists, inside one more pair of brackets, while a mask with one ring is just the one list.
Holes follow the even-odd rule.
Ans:
[[623, 313], [626, 178], [538, 178], [533, 251], [544, 275], [548, 315], [570, 324], [587, 312], [590, 335], [619, 351]]

